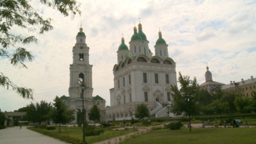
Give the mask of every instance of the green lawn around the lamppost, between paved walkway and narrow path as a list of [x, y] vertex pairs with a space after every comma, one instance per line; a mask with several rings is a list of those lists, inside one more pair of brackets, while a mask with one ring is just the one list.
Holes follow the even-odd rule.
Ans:
[[[83, 140], [83, 131], [81, 127], [67, 127], [67, 130], [65, 131], [64, 127], [61, 127], [61, 133], [58, 133], [58, 127], [55, 130], [46, 130], [42, 128], [35, 128], [35, 127], [29, 127], [32, 131], [37, 131], [39, 133], [42, 133], [44, 135], [50, 135], [54, 138], [59, 138], [66, 142], [71, 143], [80, 143]], [[126, 135], [129, 133], [132, 133], [134, 131], [115, 131], [115, 130], [105, 130], [100, 135], [95, 136], [86, 136], [85, 140], [87, 143], [95, 143], [95, 142], [101, 142], [103, 140], [109, 139], [109, 138], [115, 138], [120, 135]]]

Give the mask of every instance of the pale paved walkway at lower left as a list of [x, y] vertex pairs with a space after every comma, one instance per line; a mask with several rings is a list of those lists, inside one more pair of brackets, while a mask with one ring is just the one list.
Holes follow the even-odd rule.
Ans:
[[56, 138], [51, 138], [27, 127], [8, 127], [0, 130], [0, 144], [67, 144]]

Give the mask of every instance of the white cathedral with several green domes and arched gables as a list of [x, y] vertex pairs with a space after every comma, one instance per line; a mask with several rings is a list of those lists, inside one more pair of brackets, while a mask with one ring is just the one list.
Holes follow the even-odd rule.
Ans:
[[[114, 87], [110, 89], [110, 106], [106, 108], [106, 120], [131, 120], [139, 104], [147, 104], [150, 116], [169, 116], [172, 96], [171, 85], [176, 85], [176, 63], [169, 57], [168, 45], [159, 31], [154, 46], [155, 56], [148, 46], [149, 41], [134, 27], [129, 48], [121, 39], [117, 50], [117, 65], [113, 66]], [[165, 105], [165, 106], [164, 106]]]

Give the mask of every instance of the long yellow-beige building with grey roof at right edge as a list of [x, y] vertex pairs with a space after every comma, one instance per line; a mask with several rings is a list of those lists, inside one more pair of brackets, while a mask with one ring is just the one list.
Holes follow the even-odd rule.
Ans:
[[239, 82], [230, 81], [229, 84], [222, 86], [221, 89], [251, 98], [252, 92], [256, 91], [256, 78], [250, 76], [250, 79], [241, 79]]

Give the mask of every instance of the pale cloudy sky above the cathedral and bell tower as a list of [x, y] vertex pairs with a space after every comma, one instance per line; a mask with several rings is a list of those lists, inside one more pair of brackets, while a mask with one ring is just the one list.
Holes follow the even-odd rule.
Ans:
[[[53, 102], [69, 95], [69, 65], [72, 46], [82, 21], [90, 47], [93, 96], [100, 95], [109, 105], [113, 88], [113, 65], [122, 33], [126, 45], [139, 18], [149, 40], [150, 50], [158, 39], [159, 28], [167, 42], [176, 72], [205, 81], [206, 63], [213, 80], [220, 83], [256, 76], [256, 1], [80, 1], [81, 15], [64, 17], [33, 0], [32, 6], [45, 18], [53, 19], [54, 29], [37, 35], [38, 42], [26, 45], [35, 56], [26, 68], [10, 65], [0, 57], [0, 72], [19, 86], [34, 90], [34, 99], [24, 99], [13, 90], [0, 87], [0, 109], [13, 111], [31, 102]], [[27, 34], [18, 28], [13, 32]]]

